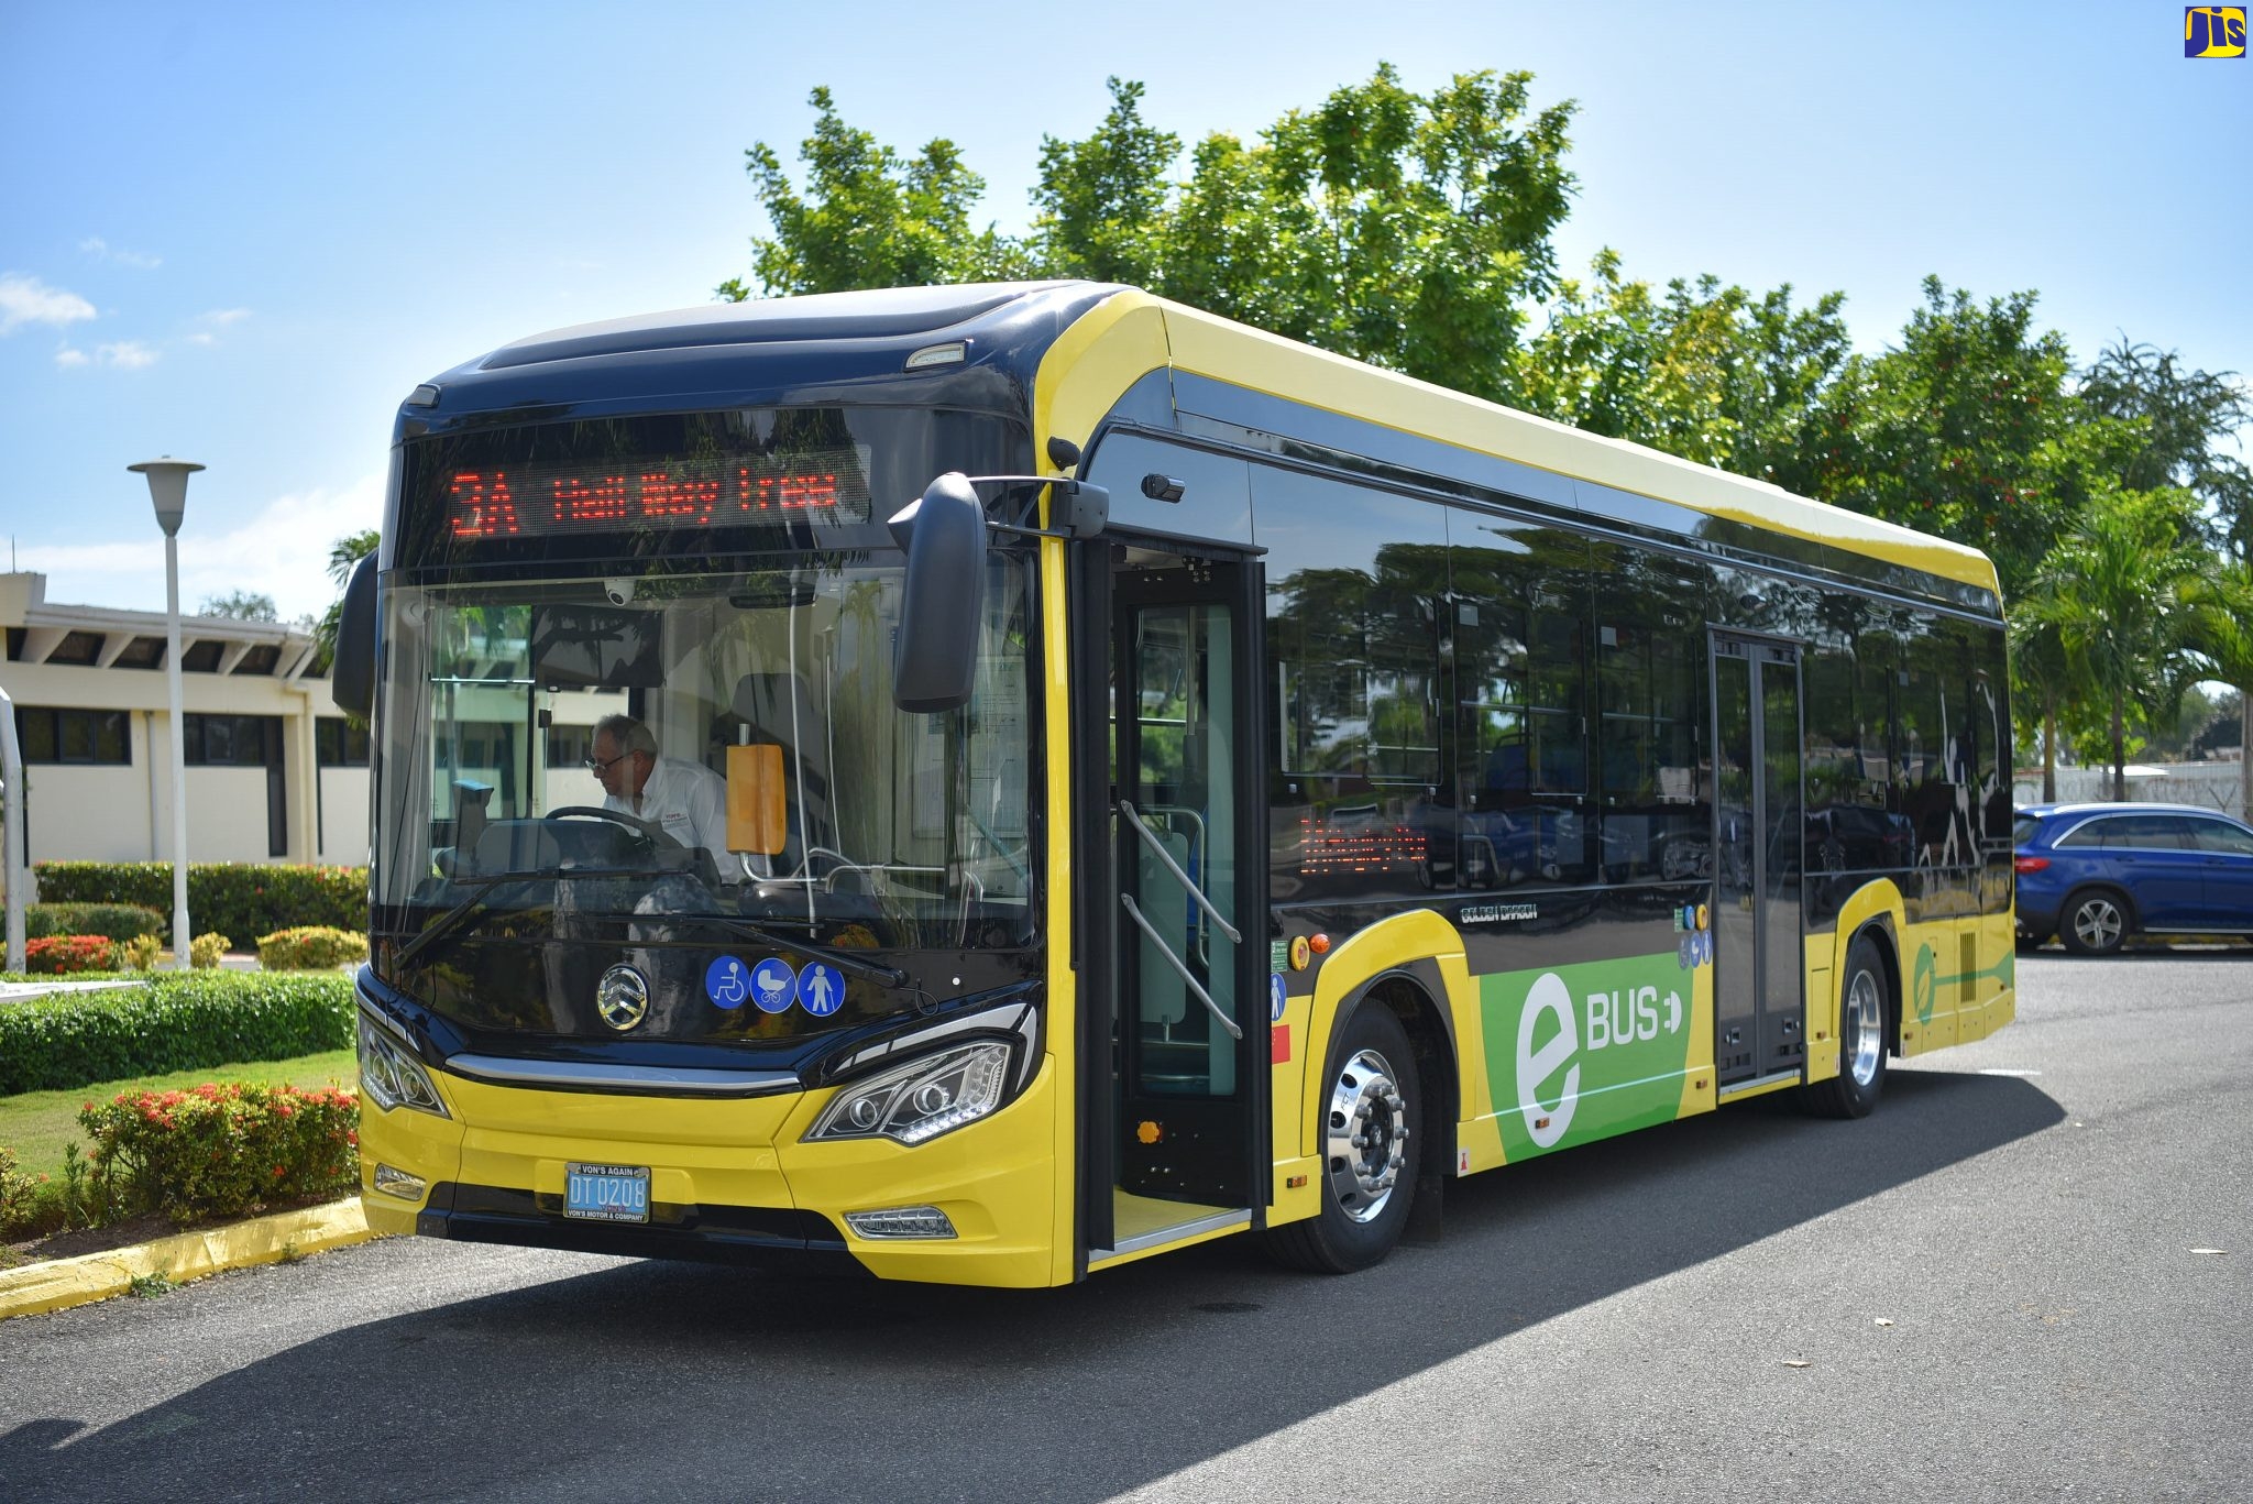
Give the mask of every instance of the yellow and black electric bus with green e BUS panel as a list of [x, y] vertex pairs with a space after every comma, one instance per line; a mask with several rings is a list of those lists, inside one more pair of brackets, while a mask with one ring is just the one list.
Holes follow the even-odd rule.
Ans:
[[1088, 282], [563, 329], [392, 455], [381, 1231], [1341, 1272], [2012, 1017], [1969, 548]]

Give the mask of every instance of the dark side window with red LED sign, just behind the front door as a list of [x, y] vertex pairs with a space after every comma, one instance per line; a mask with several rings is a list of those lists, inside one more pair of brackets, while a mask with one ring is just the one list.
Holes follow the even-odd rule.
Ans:
[[1275, 897], [1451, 882], [1440, 749], [1446, 521], [1431, 503], [1253, 467], [1266, 546]]

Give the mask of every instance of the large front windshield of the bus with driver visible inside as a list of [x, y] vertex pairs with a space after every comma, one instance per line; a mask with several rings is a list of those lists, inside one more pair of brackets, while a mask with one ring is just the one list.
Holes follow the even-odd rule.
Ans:
[[1027, 561], [949, 715], [892, 704], [899, 555], [755, 564], [385, 586], [379, 947], [1032, 940]]

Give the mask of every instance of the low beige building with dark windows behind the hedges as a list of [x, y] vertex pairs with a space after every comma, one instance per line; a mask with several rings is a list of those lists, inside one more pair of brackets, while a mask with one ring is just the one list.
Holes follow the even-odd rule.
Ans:
[[[47, 600], [0, 575], [32, 861], [171, 859], [164, 613]], [[180, 618], [192, 861], [367, 861], [367, 733], [313, 674], [313, 636]], [[9, 832], [18, 839], [16, 832]]]

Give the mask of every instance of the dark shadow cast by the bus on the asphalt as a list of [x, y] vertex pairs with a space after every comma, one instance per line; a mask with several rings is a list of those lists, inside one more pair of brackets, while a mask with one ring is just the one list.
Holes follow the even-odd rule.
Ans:
[[[2064, 1118], [2023, 1078], [1895, 1071], [1863, 1123], [1746, 1103], [1449, 1186], [1347, 1279], [1246, 1240], [996, 1292], [631, 1263], [369, 1321], [70, 1441], [11, 1497], [1099, 1499], [1537, 1321]], [[1836, 1272], [1809, 1272], [1834, 1279]]]

